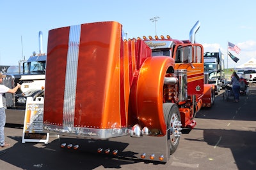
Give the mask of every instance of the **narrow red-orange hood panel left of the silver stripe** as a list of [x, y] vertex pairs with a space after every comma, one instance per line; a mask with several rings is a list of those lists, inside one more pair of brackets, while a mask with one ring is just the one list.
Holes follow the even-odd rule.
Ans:
[[49, 31], [44, 122], [62, 125], [69, 27]]

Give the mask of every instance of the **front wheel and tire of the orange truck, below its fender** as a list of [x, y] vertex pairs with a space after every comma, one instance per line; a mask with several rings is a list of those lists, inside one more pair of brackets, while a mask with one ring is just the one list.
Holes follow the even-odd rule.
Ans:
[[[170, 154], [172, 155], [177, 150], [180, 141], [181, 123], [180, 112], [177, 104], [164, 103], [164, 121], [168, 131], [168, 142], [170, 142]], [[170, 133], [169, 133], [170, 132]]]

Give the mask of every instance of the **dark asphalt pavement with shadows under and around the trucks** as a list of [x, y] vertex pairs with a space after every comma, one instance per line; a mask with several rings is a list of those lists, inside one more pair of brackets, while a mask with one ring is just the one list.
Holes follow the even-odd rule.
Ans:
[[11, 145], [0, 148], [6, 152], [0, 154], [0, 169], [256, 169], [255, 101], [255, 87], [239, 103], [223, 100], [221, 90], [214, 106], [196, 115], [195, 129], [182, 131], [179, 148], [166, 164], [63, 150], [56, 136], [47, 144], [22, 143], [22, 125], [7, 124]]

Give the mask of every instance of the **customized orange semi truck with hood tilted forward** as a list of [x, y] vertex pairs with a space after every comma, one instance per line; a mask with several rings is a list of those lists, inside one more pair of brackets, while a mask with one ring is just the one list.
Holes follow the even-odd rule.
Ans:
[[114, 21], [49, 31], [44, 132], [59, 134], [62, 148], [166, 162], [182, 128], [214, 102], [199, 27], [185, 41], [125, 39]]

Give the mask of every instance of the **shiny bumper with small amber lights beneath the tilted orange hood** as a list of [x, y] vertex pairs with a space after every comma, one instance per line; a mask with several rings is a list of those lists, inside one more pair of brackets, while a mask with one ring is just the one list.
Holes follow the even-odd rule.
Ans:
[[[170, 131], [166, 134], [168, 135], [161, 137], [131, 138], [130, 136], [122, 136], [104, 140], [60, 136], [60, 145], [65, 143], [66, 146], [63, 149], [68, 150], [67, 146], [72, 144], [70, 152], [74, 152], [71, 151], [74, 150], [73, 147], [79, 145], [76, 152], [83, 152], [84, 154], [94, 153], [101, 156], [118, 157], [118, 159], [167, 162], [170, 159], [170, 146], [168, 146], [170, 145]], [[99, 149], [102, 151], [98, 152]], [[117, 154], [115, 155], [113, 152], [117, 152]], [[141, 158], [143, 154], [145, 155], [144, 159]], [[163, 159], [159, 160], [161, 156]]]

